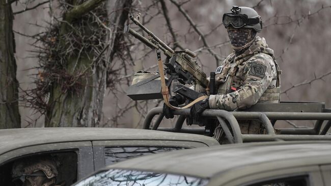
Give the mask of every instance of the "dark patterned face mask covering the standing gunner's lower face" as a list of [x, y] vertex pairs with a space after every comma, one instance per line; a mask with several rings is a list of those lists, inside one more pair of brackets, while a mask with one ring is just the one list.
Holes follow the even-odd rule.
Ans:
[[252, 41], [256, 32], [251, 30], [250, 33], [249, 29], [228, 29], [228, 36], [232, 46], [240, 47]]

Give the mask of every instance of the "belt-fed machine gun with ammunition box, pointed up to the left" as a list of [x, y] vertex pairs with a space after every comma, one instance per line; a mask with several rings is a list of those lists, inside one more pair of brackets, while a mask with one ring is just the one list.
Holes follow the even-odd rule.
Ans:
[[[182, 85], [176, 85], [173, 92], [181, 94], [190, 101], [198, 98], [201, 95], [199, 91], [202, 88], [207, 88], [209, 81], [206, 78], [206, 74], [196, 62], [197, 55], [188, 49], [173, 50], [142, 25], [139, 20], [132, 15], [129, 18], [148, 34], [149, 39], [130, 29], [129, 25], [125, 25], [124, 33], [131, 34], [153, 50], [159, 49], [163, 51], [163, 54], [167, 56], [167, 60], [164, 63], [167, 67], [164, 73], [170, 75], [167, 87], [170, 89], [172, 82], [177, 80]], [[143, 81], [139, 81], [139, 83], [131, 85], [127, 91], [127, 95], [133, 100], [162, 98], [160, 83], [157, 81], [159, 76], [153, 75]], [[195, 85], [195, 90], [185, 87], [185, 84]]]

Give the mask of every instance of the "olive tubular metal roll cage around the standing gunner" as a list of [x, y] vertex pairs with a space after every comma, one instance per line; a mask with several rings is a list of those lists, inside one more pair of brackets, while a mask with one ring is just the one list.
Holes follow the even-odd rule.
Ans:
[[[249, 110], [228, 112], [224, 110], [206, 110], [203, 117], [217, 118], [230, 143], [260, 142], [260, 141], [291, 141], [291, 140], [331, 140], [326, 135], [331, 127], [331, 110], [325, 109], [324, 103], [258, 103]], [[258, 112], [257, 110], [261, 110]], [[283, 112], [280, 112], [283, 110]], [[159, 115], [151, 128], [153, 118]], [[173, 128], [159, 127], [164, 115], [162, 107], [149, 111], [144, 120], [144, 129], [164, 130], [172, 132], [185, 132], [204, 134], [205, 128], [183, 128], [189, 109], [176, 110], [174, 115], [180, 115]], [[260, 120], [265, 128], [265, 134], [241, 134], [238, 119]], [[317, 120], [312, 128], [278, 128], [280, 134], [275, 134], [273, 124], [277, 120]], [[323, 123], [325, 121], [324, 127]], [[227, 125], [226, 122], [229, 124]], [[231, 132], [232, 131], [232, 132]]]

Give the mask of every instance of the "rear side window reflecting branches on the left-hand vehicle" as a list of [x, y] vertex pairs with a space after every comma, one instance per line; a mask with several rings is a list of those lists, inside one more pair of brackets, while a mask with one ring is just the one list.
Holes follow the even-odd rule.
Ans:
[[184, 149], [183, 147], [106, 147], [104, 148], [105, 164], [128, 160], [133, 157]]

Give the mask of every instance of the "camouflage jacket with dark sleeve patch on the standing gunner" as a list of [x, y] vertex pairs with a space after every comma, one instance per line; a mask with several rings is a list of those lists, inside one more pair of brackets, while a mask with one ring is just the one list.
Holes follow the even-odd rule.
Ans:
[[258, 101], [279, 102], [279, 72], [273, 50], [264, 38], [256, 37], [243, 54], [236, 57], [233, 52], [217, 67], [217, 95], [209, 96], [209, 107], [233, 111], [249, 108]]

